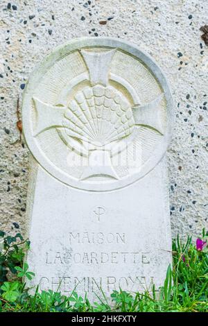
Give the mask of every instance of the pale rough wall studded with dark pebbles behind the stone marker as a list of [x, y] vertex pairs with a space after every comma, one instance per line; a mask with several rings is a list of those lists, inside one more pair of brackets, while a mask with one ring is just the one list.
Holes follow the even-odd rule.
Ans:
[[164, 70], [175, 101], [173, 236], [208, 228], [208, 47], [199, 30], [207, 17], [204, 0], [0, 1], [1, 230], [25, 232], [28, 150], [19, 109], [26, 80], [55, 46], [88, 35], [134, 42]]

